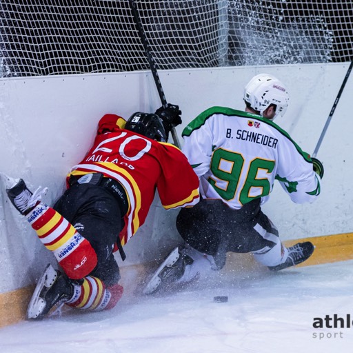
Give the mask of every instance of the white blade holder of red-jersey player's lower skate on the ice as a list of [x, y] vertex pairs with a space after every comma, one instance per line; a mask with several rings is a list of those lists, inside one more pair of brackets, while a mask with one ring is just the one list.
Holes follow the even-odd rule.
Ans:
[[27, 319], [37, 319], [46, 307], [46, 301], [41, 298], [43, 288], [50, 288], [57, 279], [57, 271], [54, 270], [52, 265], [48, 264], [44, 270], [41, 278], [39, 279], [36, 288], [32, 294], [32, 298], [27, 308]]

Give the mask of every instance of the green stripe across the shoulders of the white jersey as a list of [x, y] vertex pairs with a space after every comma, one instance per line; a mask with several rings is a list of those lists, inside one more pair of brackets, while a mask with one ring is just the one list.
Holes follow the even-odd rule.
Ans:
[[273, 128], [278, 130], [280, 134], [285, 136], [288, 140], [290, 140], [294, 144], [296, 150], [303, 156], [305, 161], [312, 163], [312, 159], [310, 158], [310, 154], [308, 154], [307, 152], [304, 152], [299, 147], [299, 145], [296, 144], [296, 142], [292, 139], [292, 137], [290, 137], [288, 132], [286, 132], [285, 130], [280, 128], [279, 125], [277, 125], [273, 121], [270, 121], [269, 119], [265, 119], [263, 117], [260, 117], [259, 115], [251, 114], [251, 113], [248, 113], [248, 112], [243, 112], [241, 110], [235, 110], [235, 109], [232, 109], [232, 108], [217, 107], [217, 106], [216, 107], [212, 107], [212, 108], [208, 108], [207, 110], [205, 110], [204, 112], [199, 114], [188, 125], [185, 126], [181, 136], [182, 137], [190, 136], [190, 134], [192, 134], [192, 132], [194, 130], [197, 130], [197, 129], [201, 128], [201, 126], [203, 126], [205, 124], [207, 119], [212, 117], [214, 114], [227, 115], [228, 117], [236, 116], [236, 117], [243, 117], [243, 118], [246, 118], [246, 119], [250, 118], [250, 119], [258, 120], [258, 121], [261, 121], [262, 123], [271, 125]]

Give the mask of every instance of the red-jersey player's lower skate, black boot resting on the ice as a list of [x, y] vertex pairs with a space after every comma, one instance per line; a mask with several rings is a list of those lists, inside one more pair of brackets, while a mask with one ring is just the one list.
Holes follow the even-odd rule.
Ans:
[[27, 309], [27, 319], [43, 319], [43, 316], [73, 296], [74, 284], [49, 264], [33, 292]]

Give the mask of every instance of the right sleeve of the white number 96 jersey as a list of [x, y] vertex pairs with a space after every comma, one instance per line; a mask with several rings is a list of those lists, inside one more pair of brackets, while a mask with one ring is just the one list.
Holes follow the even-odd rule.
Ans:
[[312, 160], [293, 141], [279, 151], [276, 179], [294, 203], [312, 203], [321, 191], [321, 179], [313, 170]]

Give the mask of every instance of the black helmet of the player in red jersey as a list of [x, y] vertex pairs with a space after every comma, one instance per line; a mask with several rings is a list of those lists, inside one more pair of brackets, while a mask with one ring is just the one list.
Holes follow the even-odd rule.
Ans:
[[136, 112], [126, 122], [125, 129], [152, 140], [167, 141], [163, 124], [157, 114]]

